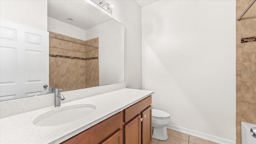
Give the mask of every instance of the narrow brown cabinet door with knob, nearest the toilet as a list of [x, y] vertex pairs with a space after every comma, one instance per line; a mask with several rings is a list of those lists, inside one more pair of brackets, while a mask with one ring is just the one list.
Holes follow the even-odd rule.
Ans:
[[152, 141], [152, 106], [142, 112], [142, 144]]

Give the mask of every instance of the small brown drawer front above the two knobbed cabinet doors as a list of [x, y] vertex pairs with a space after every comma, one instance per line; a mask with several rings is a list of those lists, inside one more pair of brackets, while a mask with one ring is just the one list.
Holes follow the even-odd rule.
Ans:
[[137, 102], [136, 104], [126, 108], [124, 110], [124, 120], [125, 122], [128, 122], [134, 116], [140, 114], [142, 110], [146, 109], [148, 106], [150, 106], [152, 103], [152, 96], [148, 96], [147, 98], [144, 98], [140, 102]]

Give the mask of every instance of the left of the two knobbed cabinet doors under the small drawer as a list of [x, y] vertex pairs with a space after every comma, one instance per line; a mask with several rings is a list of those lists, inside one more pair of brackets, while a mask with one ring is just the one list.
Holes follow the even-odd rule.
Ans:
[[124, 126], [125, 144], [141, 144], [141, 115]]

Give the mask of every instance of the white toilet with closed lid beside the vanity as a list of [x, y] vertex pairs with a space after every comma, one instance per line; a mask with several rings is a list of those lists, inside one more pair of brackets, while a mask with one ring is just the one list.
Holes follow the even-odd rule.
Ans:
[[167, 140], [168, 136], [166, 126], [170, 124], [170, 121], [170, 114], [162, 110], [152, 109], [152, 138], [157, 140]]

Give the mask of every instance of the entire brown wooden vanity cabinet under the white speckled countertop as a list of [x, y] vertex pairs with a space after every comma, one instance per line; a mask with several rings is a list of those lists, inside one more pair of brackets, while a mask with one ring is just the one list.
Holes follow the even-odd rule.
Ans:
[[150, 144], [151, 98], [144, 98], [61, 144]]

